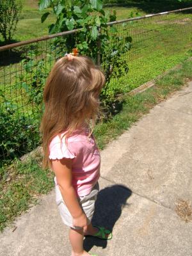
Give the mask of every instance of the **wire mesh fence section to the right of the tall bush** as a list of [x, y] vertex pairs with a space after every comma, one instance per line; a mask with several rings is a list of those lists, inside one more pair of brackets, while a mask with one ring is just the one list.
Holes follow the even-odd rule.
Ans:
[[129, 92], [187, 58], [191, 54], [191, 14], [188, 10], [113, 24], [116, 40], [132, 38], [131, 50], [122, 56], [129, 72], [114, 81], [114, 86], [121, 84], [121, 90]]

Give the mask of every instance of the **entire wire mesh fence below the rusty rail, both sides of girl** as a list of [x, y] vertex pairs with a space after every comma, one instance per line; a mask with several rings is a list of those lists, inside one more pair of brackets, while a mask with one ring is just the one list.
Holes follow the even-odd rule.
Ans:
[[[129, 71], [118, 79], [113, 76], [108, 84], [107, 94], [112, 95], [113, 100], [118, 94], [129, 92], [177, 65], [191, 52], [192, 8], [110, 22], [108, 27], [108, 51], [98, 56], [101, 66], [107, 65], [108, 54], [115, 51], [115, 41], [121, 40], [125, 47], [127, 38], [129, 42], [132, 40], [131, 49], [120, 56]], [[0, 47], [1, 164], [39, 145], [38, 127], [46, 77], [54, 62], [67, 52], [62, 38], [76, 37], [77, 33], [76, 29]], [[118, 68], [114, 72], [118, 72]]]

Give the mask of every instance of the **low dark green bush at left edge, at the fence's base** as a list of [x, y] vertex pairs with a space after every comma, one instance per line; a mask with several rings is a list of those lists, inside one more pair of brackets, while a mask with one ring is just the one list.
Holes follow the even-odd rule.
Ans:
[[[7, 106], [8, 103], [6, 102]], [[8, 107], [0, 109], [0, 112], [0, 156], [3, 164], [26, 154], [38, 145], [39, 116], [19, 116], [16, 109], [11, 110]]]

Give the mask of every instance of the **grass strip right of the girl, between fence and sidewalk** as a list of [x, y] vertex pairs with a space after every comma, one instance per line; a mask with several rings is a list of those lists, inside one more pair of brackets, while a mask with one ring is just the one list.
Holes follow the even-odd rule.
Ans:
[[166, 76], [158, 79], [156, 86], [143, 93], [127, 97], [124, 100], [122, 111], [118, 115], [95, 128], [95, 137], [99, 148], [104, 148], [111, 140], [122, 134], [125, 129], [129, 129], [155, 104], [166, 99], [176, 90], [180, 90], [186, 78], [192, 79], [192, 61], [185, 61], [182, 67], [170, 71]]

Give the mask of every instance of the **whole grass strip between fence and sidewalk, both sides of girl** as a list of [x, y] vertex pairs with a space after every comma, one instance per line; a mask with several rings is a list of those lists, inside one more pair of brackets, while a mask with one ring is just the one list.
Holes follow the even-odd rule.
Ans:
[[[107, 122], [95, 127], [95, 138], [100, 149], [129, 129], [141, 116], [158, 102], [165, 100], [192, 79], [192, 61], [184, 61], [176, 70], [156, 80], [154, 87], [143, 93], [126, 96], [122, 111]], [[12, 166], [0, 169], [0, 230], [10, 225], [16, 216], [38, 204], [38, 197], [51, 191], [53, 173], [42, 170], [40, 156], [27, 162], [15, 161]]]

